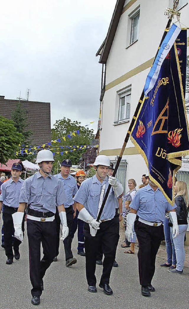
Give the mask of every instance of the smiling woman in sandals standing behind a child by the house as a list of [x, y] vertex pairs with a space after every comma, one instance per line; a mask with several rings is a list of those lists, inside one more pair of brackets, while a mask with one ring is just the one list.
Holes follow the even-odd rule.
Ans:
[[[125, 215], [124, 215], [125, 229], [126, 229], [126, 226], [127, 226], [127, 215], [130, 212], [129, 204], [133, 200], [135, 193], [136, 193], [136, 182], [135, 182], [134, 179], [128, 180], [128, 188], [129, 188], [129, 191], [123, 197], [123, 203], [125, 205]], [[133, 225], [133, 228], [132, 228], [132, 232], [133, 232], [133, 238], [130, 239], [130, 242], [128, 242], [128, 240], [125, 239], [124, 243], [121, 244], [122, 248], [128, 248], [128, 247], [130, 247], [130, 244], [131, 244], [131, 248], [128, 251], [127, 250], [124, 251], [124, 253], [128, 253], [128, 254], [134, 254], [135, 253], [136, 234], [135, 234], [135, 231], [134, 231], [134, 225]]]

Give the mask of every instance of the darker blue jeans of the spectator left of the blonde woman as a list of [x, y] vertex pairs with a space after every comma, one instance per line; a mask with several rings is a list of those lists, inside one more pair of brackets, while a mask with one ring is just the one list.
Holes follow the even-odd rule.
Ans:
[[169, 219], [165, 218], [163, 221], [163, 229], [166, 241], [166, 251], [167, 251], [167, 263], [176, 265], [176, 254], [174, 249], [173, 237], [171, 234], [170, 226], [168, 226]]

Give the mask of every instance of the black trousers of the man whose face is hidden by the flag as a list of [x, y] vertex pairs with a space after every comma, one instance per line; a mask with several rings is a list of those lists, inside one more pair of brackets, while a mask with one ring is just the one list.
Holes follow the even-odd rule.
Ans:
[[163, 225], [150, 226], [138, 220], [134, 223], [136, 237], [139, 243], [138, 269], [141, 286], [151, 284], [155, 273], [157, 251], [163, 239]]

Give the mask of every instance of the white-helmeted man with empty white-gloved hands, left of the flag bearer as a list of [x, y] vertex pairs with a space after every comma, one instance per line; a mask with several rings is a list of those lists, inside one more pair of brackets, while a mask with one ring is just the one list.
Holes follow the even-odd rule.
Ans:
[[[43, 277], [51, 265], [56, 253], [56, 205], [62, 222], [62, 237], [68, 235], [64, 203], [66, 196], [60, 180], [50, 174], [54, 162], [50, 150], [40, 150], [36, 163], [40, 170], [27, 178], [20, 191], [19, 209], [13, 214], [15, 237], [23, 241], [21, 222], [26, 204], [27, 237], [29, 246], [30, 281], [33, 305], [40, 304], [40, 296], [44, 289]], [[41, 244], [43, 258], [41, 259]]]

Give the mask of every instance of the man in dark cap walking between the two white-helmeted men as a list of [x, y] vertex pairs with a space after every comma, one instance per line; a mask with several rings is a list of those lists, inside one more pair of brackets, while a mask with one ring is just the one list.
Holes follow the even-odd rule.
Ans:
[[[73, 253], [71, 250], [71, 244], [72, 244], [72, 235], [71, 235], [71, 229], [73, 224], [73, 218], [76, 214], [76, 203], [73, 201], [73, 197], [78, 191], [77, 184], [75, 179], [69, 175], [70, 167], [72, 166], [72, 163], [69, 159], [65, 159], [61, 163], [61, 172], [54, 177], [60, 179], [64, 190], [66, 194], [67, 201], [64, 204], [65, 212], [66, 212], [66, 218], [67, 218], [67, 224], [69, 228], [69, 234], [66, 237], [66, 239], [63, 241], [64, 243], [64, 250], [65, 250], [65, 260], [66, 266], [71, 266], [75, 263], [77, 263], [77, 259], [73, 257]], [[60, 229], [60, 222], [57, 222], [57, 231]], [[59, 236], [57, 235], [57, 249], [59, 247]]]

